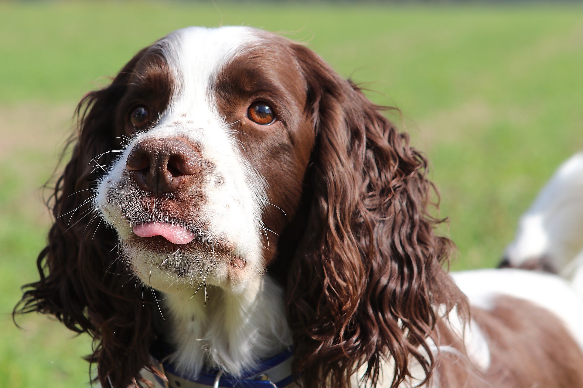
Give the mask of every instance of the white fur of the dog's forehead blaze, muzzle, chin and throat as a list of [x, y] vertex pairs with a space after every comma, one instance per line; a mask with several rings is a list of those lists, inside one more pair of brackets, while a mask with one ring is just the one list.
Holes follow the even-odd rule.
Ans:
[[[229, 123], [220, 117], [212, 84], [232, 58], [258, 40], [245, 27], [178, 30], [157, 43], [177, 81], [170, 105], [154, 128], [125, 144], [120, 158], [101, 180], [96, 207], [122, 241], [132, 234], [120, 204], [112, 195], [124, 185], [125, 163], [135, 144], [150, 138], [184, 136], [202, 144], [202, 156], [212, 161], [225, 183], [216, 188], [208, 179], [205, 193], [209, 201], [196, 217], [204, 217], [208, 227], [197, 230], [203, 241], [227, 241], [233, 255], [245, 261], [243, 274], [236, 279], [229, 264], [209, 257], [163, 258], [156, 253], [132, 248], [126, 252], [132, 269], [141, 280], [164, 292], [174, 325], [172, 356], [178, 369], [192, 377], [203, 364], [220, 366], [238, 375], [262, 358], [284, 350], [291, 343], [286, 323], [282, 290], [262, 274], [260, 231], [264, 183], [238, 151]], [[119, 201], [122, 202], [122, 201]], [[143, 209], [136, 209], [142, 211]], [[156, 214], [150, 216], [156, 220]], [[185, 220], [188, 221], [188, 220]], [[180, 260], [194, 262], [191, 273], [173, 276], [168, 265]]]

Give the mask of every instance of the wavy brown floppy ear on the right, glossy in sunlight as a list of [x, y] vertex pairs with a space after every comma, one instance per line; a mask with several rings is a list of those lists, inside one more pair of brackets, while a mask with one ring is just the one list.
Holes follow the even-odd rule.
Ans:
[[294, 371], [304, 388], [349, 387], [357, 370], [374, 387], [392, 359], [396, 387], [420, 377], [416, 359], [429, 379], [434, 308], [464, 299], [441, 267], [451, 242], [427, 212], [427, 161], [354, 84], [294, 50], [317, 133], [311, 209], [287, 286]]

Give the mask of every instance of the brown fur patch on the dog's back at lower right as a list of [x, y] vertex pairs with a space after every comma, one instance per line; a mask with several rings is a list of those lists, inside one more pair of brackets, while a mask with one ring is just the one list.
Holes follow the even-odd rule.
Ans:
[[[441, 353], [440, 386], [447, 388], [583, 387], [583, 353], [563, 322], [531, 302], [498, 297], [494, 308], [472, 308], [490, 348], [490, 366], [479, 371], [464, 358]], [[444, 325], [441, 344], [463, 351]]]

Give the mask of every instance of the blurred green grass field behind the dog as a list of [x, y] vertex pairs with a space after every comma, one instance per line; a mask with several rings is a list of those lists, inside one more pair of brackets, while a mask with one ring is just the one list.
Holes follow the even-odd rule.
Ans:
[[[0, 387], [87, 386], [89, 338], [9, 312], [36, 280], [51, 176], [76, 102], [132, 55], [190, 25], [244, 24], [307, 41], [431, 161], [454, 269], [496, 264], [519, 215], [583, 149], [583, 6], [342, 3], [0, 3]], [[376, 93], [378, 92], [378, 93]]]

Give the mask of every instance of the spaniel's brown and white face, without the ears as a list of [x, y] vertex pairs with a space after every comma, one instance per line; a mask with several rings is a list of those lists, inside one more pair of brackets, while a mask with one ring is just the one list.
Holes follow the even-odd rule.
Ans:
[[100, 214], [146, 284], [243, 287], [275, 254], [314, 143], [296, 55], [263, 31], [189, 28], [134, 61]]

